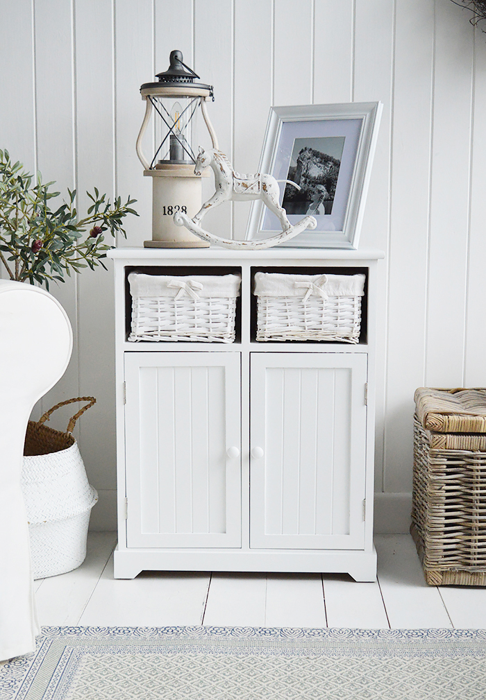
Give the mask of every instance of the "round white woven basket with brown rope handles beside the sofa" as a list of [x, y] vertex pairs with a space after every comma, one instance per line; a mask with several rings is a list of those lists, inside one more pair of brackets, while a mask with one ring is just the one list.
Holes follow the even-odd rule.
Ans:
[[[69, 421], [66, 433], [44, 425], [57, 408], [88, 401]], [[86, 556], [90, 512], [98, 494], [88, 483], [78, 443], [71, 434], [76, 420], [95, 403], [83, 396], [62, 401], [29, 421], [25, 436], [22, 492], [29, 521], [34, 579], [66, 573]]]

